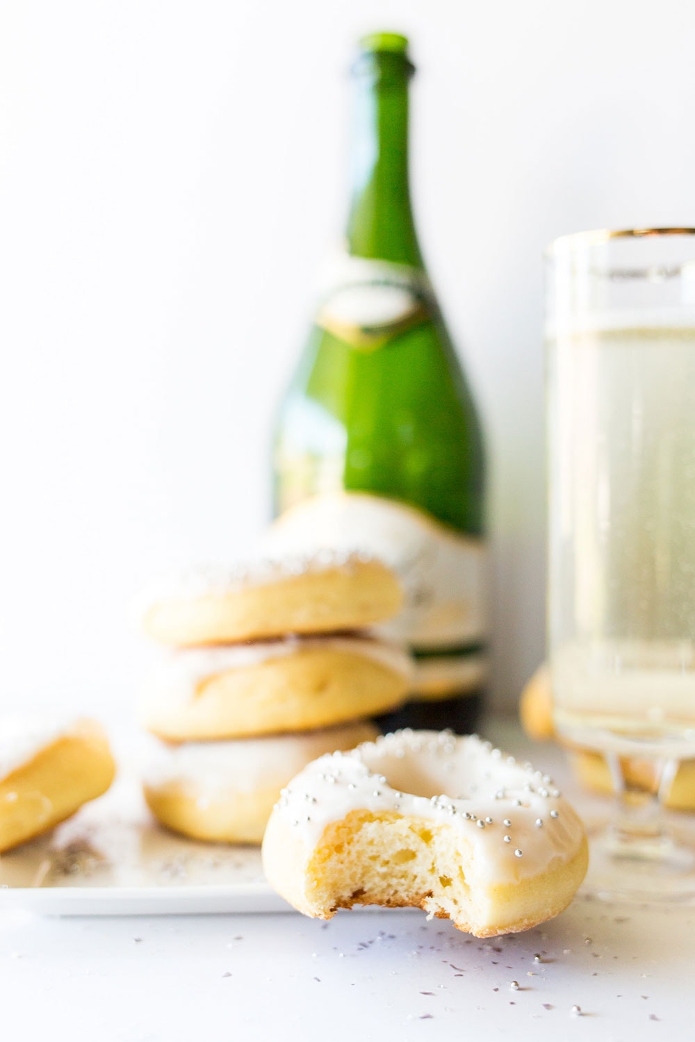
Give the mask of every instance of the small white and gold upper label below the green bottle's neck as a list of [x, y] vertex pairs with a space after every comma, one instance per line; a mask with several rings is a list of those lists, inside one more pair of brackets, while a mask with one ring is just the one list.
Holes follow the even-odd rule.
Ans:
[[316, 323], [358, 351], [375, 351], [429, 321], [432, 305], [424, 271], [341, 253], [326, 266]]

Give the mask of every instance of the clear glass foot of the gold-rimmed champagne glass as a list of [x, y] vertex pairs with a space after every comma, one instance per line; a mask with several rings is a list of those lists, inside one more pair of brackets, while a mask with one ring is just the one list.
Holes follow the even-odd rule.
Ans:
[[630, 903], [695, 903], [695, 830], [659, 821], [629, 830], [607, 817], [588, 824], [582, 892]]

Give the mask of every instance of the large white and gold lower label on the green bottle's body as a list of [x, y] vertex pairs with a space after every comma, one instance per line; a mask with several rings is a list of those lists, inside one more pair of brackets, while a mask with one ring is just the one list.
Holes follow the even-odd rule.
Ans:
[[364, 550], [398, 574], [405, 604], [378, 627], [411, 645], [414, 692], [445, 698], [479, 689], [488, 671], [488, 552], [423, 511], [362, 492], [329, 492], [282, 514], [264, 538], [266, 553]]

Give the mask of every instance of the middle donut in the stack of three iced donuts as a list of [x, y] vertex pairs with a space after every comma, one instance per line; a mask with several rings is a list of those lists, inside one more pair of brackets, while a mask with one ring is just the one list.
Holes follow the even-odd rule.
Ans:
[[401, 704], [408, 674], [399, 646], [366, 637], [179, 649], [153, 669], [140, 721], [173, 742], [311, 730]]

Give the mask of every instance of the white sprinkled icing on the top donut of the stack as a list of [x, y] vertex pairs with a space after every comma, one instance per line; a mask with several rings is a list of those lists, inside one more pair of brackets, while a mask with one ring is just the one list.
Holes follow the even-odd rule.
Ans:
[[199, 565], [151, 582], [134, 599], [133, 613], [140, 620], [151, 607], [164, 600], [224, 596], [248, 587], [269, 586], [308, 572], [333, 568], [350, 570], [357, 564], [373, 560], [372, 554], [350, 548], [302, 553], [295, 551], [275, 556], [257, 556], [237, 564]]

